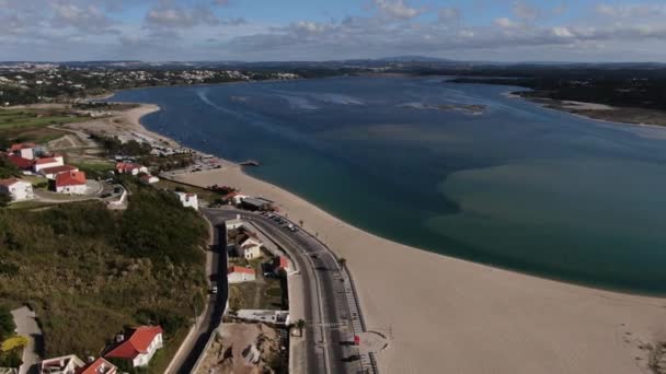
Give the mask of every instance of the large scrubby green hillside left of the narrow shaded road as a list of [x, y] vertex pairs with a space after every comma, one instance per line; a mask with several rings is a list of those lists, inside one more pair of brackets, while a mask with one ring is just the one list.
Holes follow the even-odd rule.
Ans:
[[0, 210], [0, 304], [35, 309], [48, 357], [99, 355], [137, 324], [161, 324], [169, 347], [203, 308], [205, 221], [169, 192], [129, 187], [124, 213]]

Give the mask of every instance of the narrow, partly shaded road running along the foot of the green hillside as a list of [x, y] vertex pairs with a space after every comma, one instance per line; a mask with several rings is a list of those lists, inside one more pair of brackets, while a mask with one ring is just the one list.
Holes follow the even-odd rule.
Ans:
[[208, 276], [215, 276], [211, 283], [217, 284], [218, 293], [217, 295], [210, 295], [203, 316], [197, 320], [194, 336], [183, 342], [170, 365], [169, 374], [190, 373], [199, 355], [202, 355], [210, 335], [222, 322], [222, 314], [227, 304], [227, 256], [225, 254], [226, 243], [220, 244], [220, 241], [225, 242], [225, 226], [221, 229], [214, 226], [213, 235]]

